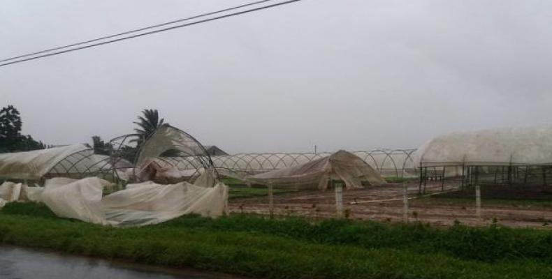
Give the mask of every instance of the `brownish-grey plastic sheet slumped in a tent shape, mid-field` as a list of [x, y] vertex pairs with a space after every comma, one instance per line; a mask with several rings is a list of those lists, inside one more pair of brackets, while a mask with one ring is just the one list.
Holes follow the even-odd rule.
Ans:
[[341, 179], [346, 188], [362, 188], [362, 181], [368, 181], [372, 185], [385, 183], [382, 176], [364, 160], [343, 150], [303, 165], [246, 176], [245, 180], [274, 186], [324, 190], [328, 187], [330, 178]]

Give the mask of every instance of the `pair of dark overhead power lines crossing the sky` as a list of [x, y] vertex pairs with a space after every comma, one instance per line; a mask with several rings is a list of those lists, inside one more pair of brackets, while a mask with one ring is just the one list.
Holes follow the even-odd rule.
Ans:
[[[0, 62], [3, 62], [3, 61], [10, 61], [10, 60], [13, 60], [13, 59], [17, 59], [17, 58], [22, 58], [22, 57], [27, 57], [27, 56], [31, 56], [31, 55], [35, 55], [35, 54], [41, 54], [41, 53], [45, 53], [45, 52], [51, 52], [51, 51], [54, 51], [54, 50], [61, 50], [61, 49], [64, 49], [66, 47], [73, 47], [73, 46], [76, 46], [76, 45], [83, 45], [85, 43], [92, 43], [92, 42], [96, 42], [98, 40], [104, 40], [106, 38], [113, 38], [113, 37], [116, 37], [116, 36], [121, 36], [121, 35], [124, 35], [124, 34], [128, 34], [128, 33], [135, 33], [137, 31], [143, 31], [143, 30], [146, 30], [146, 29], [152, 29], [152, 28], [155, 28], [155, 27], [160, 27], [160, 26], [164, 26], [164, 25], [167, 25], [167, 24], [173, 24], [175, 22], [182, 22], [182, 21], [185, 21], [185, 20], [191, 20], [191, 19], [195, 19], [195, 18], [198, 18], [198, 17], [203, 17], [203, 16], [206, 16], [206, 15], [213, 15], [215, 13], [222, 13], [224, 11], [228, 11], [228, 10], [234, 10], [236, 8], [243, 8], [245, 6], [252, 6], [252, 5], [256, 5], [258, 3], [263, 3], [263, 2], [267, 2], [267, 1], [272, 1], [272, 0], [263, 0], [263, 1], [256, 1], [256, 2], [252, 2], [252, 3], [248, 3], [248, 4], [244, 4], [244, 5], [241, 5], [241, 6], [235, 6], [235, 7], [232, 7], [232, 8], [226, 8], [224, 10], [217, 10], [215, 12], [212, 12], [212, 13], [205, 13], [203, 15], [196, 15], [194, 17], [188, 17], [186, 19], [182, 19], [182, 20], [175, 20], [173, 22], [166, 22], [166, 23], [162, 23], [162, 24], [157, 24], [157, 25], [154, 25], [154, 26], [151, 26], [151, 27], [144, 27], [144, 28], [141, 28], [141, 29], [135, 29], [135, 30], [132, 30], [132, 31], [126, 31], [126, 32], [123, 32], [123, 33], [118, 33], [118, 34], [113, 34], [113, 35], [110, 35], [110, 36], [105, 36], [105, 37], [102, 37], [102, 38], [96, 38], [94, 40], [87, 40], [87, 41], [84, 41], [84, 42], [80, 42], [80, 43], [73, 43], [71, 45], [65, 45], [63, 47], [55, 47], [55, 48], [52, 48], [50, 50], [42, 50], [40, 52], [34, 52], [34, 53], [31, 53], [31, 54], [24, 54], [24, 55], [20, 55], [20, 56], [15, 56], [15, 57], [12, 57], [12, 58], [8, 58], [8, 59], [3, 59], [3, 60], [0, 60]], [[131, 39], [131, 38], [138, 38], [140, 36], [145, 36], [145, 35], [150, 35], [150, 34], [153, 34], [153, 33], [159, 33], [159, 32], [162, 32], [162, 31], [168, 31], [168, 30], [172, 30], [172, 29], [177, 29], [177, 28], [180, 28], [180, 27], [189, 27], [191, 25], [195, 25], [195, 24], [200, 24], [200, 23], [204, 23], [204, 22], [210, 22], [210, 21], [213, 21], [213, 20], [221, 20], [223, 18], [226, 18], [226, 17], [233, 17], [235, 15], [242, 15], [242, 14], [245, 14], [245, 13], [252, 13], [252, 12], [255, 12], [257, 10], [264, 10], [264, 9], [267, 9], [267, 8], [274, 8], [276, 6], [282, 6], [282, 5], [285, 5], [285, 4], [288, 4], [288, 3], [293, 3], [293, 2], [297, 2], [297, 1], [301, 1], [301, 0], [288, 0], [288, 1], [284, 1], [284, 2], [280, 2], [280, 3], [274, 3], [274, 4], [270, 4], [270, 5], [267, 5], [267, 6], [262, 6], [262, 7], [258, 7], [258, 8], [252, 8], [252, 9], [249, 9], [249, 10], [242, 10], [240, 12], [235, 12], [235, 13], [229, 13], [229, 14], [226, 14], [226, 15], [220, 15], [218, 17], [211, 17], [211, 18], [208, 18], [206, 20], [198, 20], [196, 22], [190, 22], [190, 23], [187, 23], [187, 24], [180, 24], [180, 25], [177, 25], [177, 26], [174, 26], [174, 27], [167, 27], [167, 28], [164, 28], [164, 29], [158, 29], [158, 30], [154, 30], [154, 31], [149, 31], [149, 32], [145, 32], [145, 33], [139, 33], [139, 34], [136, 34], [136, 35], [132, 35], [132, 36], [126, 36], [126, 37], [123, 37], [123, 38], [117, 38], [117, 39], [114, 39], [114, 40], [107, 40], [105, 42], [101, 42], [101, 43], [94, 43], [92, 45], [85, 45], [85, 46], [82, 46], [82, 47], [75, 47], [75, 48], [72, 48], [72, 49], [69, 49], [69, 50], [61, 50], [59, 52], [52, 52], [52, 53], [48, 53], [48, 54], [43, 54], [43, 55], [39, 55], [39, 56], [34, 56], [34, 57], [29, 57], [27, 59], [21, 59], [21, 60], [17, 60], [17, 61], [11, 61], [11, 62], [8, 62], [8, 63], [1, 63], [0, 64], [0, 67], [2, 66], [8, 66], [8, 65], [11, 65], [11, 64], [15, 64], [15, 63], [20, 63], [20, 62], [24, 62], [24, 61], [30, 61], [30, 60], [34, 60], [34, 59], [39, 59], [39, 58], [43, 58], [43, 57], [48, 57], [48, 56], [53, 56], [53, 55], [57, 55], [57, 54], [64, 54], [66, 52], [73, 52], [75, 50], [83, 50], [85, 48], [89, 48], [89, 47], [96, 47], [96, 46], [99, 46], [99, 45], [106, 45], [108, 43], [115, 43], [115, 42], [119, 42], [121, 40], [127, 40], [127, 39]]]

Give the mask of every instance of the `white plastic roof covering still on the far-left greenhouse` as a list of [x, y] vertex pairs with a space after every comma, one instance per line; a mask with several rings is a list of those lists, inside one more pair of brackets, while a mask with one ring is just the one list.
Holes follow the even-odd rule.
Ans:
[[[89, 147], [82, 144], [41, 149], [26, 152], [0, 154], [0, 179], [29, 179], [38, 180], [50, 171], [77, 172], [78, 169], [87, 169], [89, 160], [73, 158], [65, 164], [61, 163], [69, 156], [87, 151]], [[90, 151], [92, 153], [92, 151]], [[84, 157], [84, 156], [83, 156]]]

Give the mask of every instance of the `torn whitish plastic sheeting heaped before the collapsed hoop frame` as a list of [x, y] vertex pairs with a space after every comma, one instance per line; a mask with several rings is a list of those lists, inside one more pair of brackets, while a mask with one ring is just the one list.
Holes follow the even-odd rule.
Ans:
[[140, 226], [161, 223], [187, 213], [217, 217], [226, 213], [228, 189], [224, 183], [204, 187], [180, 182], [161, 185], [147, 181], [102, 197], [108, 181], [49, 179], [41, 195], [57, 216], [89, 223]]

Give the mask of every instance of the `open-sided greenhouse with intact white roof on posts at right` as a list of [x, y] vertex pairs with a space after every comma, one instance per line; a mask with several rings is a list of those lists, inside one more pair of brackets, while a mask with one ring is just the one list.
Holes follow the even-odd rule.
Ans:
[[480, 182], [544, 183], [552, 167], [552, 127], [499, 128], [450, 133], [423, 144], [414, 155], [420, 186], [432, 176]]

